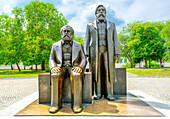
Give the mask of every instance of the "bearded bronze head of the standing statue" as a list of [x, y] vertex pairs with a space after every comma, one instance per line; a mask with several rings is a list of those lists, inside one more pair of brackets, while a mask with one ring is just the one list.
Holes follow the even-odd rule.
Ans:
[[95, 11], [96, 18], [100, 20], [105, 20], [106, 17], [106, 8], [103, 5], [99, 5]]

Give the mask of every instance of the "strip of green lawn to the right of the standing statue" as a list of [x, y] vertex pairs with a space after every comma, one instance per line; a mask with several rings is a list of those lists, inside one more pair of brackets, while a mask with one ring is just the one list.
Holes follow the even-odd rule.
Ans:
[[138, 76], [170, 76], [170, 68], [164, 69], [127, 68], [127, 72]]

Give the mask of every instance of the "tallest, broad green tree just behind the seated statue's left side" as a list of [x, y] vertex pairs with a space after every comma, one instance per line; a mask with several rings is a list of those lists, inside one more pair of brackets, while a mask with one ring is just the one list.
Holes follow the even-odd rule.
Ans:
[[68, 21], [49, 3], [32, 1], [24, 9], [27, 21], [27, 40], [29, 41], [29, 57], [27, 64], [40, 64], [45, 69], [52, 43], [61, 39], [60, 29]]

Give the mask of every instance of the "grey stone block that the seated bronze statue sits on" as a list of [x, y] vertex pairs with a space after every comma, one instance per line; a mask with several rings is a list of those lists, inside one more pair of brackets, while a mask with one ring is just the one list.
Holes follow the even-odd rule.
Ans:
[[[51, 102], [50, 74], [40, 74], [39, 79], [39, 103]], [[92, 76], [90, 72], [84, 73], [83, 78], [83, 103], [92, 103]], [[71, 102], [71, 83], [70, 79], [63, 80], [62, 102]]]

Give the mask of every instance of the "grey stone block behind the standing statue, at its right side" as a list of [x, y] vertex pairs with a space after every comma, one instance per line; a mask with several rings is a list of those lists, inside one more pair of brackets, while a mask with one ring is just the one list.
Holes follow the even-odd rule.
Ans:
[[113, 84], [114, 95], [126, 95], [126, 68], [116, 68], [117, 82]]

